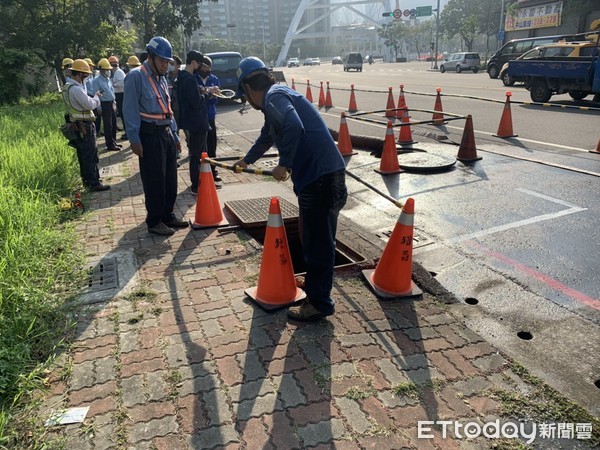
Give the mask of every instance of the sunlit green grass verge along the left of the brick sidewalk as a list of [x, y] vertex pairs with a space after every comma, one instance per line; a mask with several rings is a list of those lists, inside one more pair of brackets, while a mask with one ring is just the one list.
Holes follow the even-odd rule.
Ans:
[[83, 276], [74, 227], [58, 206], [79, 182], [62, 115], [57, 94], [0, 108], [0, 446], [8, 448], [44, 446], [22, 415], [72, 330], [70, 299]]

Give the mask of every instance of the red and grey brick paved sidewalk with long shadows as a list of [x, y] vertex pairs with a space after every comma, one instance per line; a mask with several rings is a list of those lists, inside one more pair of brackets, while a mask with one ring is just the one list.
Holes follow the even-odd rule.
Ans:
[[[380, 302], [358, 270], [336, 275], [326, 322], [263, 312], [243, 292], [261, 259], [244, 231], [151, 236], [137, 158], [126, 149], [101, 164], [115, 168], [113, 188], [86, 205], [81, 237], [90, 258], [133, 252], [138, 282], [84, 307], [53, 373], [47, 407], [90, 407], [84, 424], [56, 428], [67, 449], [485, 449], [489, 439], [444, 439], [439, 427], [418, 439], [417, 421], [482, 424], [501, 414], [493, 390], [532, 391], [435, 297]], [[256, 181], [224, 172], [223, 190]], [[179, 175], [178, 213], [190, 218], [187, 164]], [[377, 258], [383, 243], [361, 236]]]

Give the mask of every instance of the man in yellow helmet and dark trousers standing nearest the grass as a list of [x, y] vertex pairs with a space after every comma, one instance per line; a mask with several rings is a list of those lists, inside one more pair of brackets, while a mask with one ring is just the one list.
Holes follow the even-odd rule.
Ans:
[[85, 80], [91, 73], [90, 66], [83, 59], [73, 61], [71, 81], [65, 85], [63, 101], [67, 107], [67, 120], [79, 133], [79, 138], [69, 144], [77, 149], [81, 179], [90, 191], [99, 192], [110, 189], [110, 186], [100, 182], [98, 170], [94, 109], [100, 106], [100, 93], [89, 96], [84, 87]]

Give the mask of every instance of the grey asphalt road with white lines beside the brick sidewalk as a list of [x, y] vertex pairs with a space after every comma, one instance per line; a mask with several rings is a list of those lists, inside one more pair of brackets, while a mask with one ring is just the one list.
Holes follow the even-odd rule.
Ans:
[[[365, 65], [343, 72], [339, 65], [283, 69], [289, 85], [306, 92], [310, 80], [317, 103], [320, 82], [329, 81], [334, 108], [321, 108], [328, 126], [339, 129], [354, 84], [358, 108], [379, 111], [379, 123], [348, 120], [353, 135], [383, 139], [388, 86], [397, 102], [399, 85], [411, 121], [431, 119], [435, 89], [444, 112], [473, 117], [478, 156], [441, 173], [382, 176], [379, 159], [359, 151], [348, 169], [396, 199], [415, 199], [414, 259], [460, 300], [454, 312], [534, 374], [600, 413], [600, 111], [511, 106], [516, 138], [498, 130], [507, 88], [485, 72], [445, 73], [430, 63]], [[510, 88], [513, 102], [529, 102], [522, 87]], [[423, 95], [421, 95], [423, 94]], [[495, 101], [465, 98], [481, 97]], [[555, 104], [600, 108], [589, 101], [553, 97]], [[262, 125], [262, 114], [240, 115], [223, 105], [219, 122], [245, 152]], [[464, 120], [415, 125], [417, 149], [456, 156]], [[397, 132], [397, 129], [396, 129]], [[403, 156], [401, 155], [400, 158]], [[402, 159], [400, 159], [402, 164]], [[347, 217], [386, 239], [399, 211], [388, 200], [348, 179]], [[523, 339], [531, 336], [532, 339]]]

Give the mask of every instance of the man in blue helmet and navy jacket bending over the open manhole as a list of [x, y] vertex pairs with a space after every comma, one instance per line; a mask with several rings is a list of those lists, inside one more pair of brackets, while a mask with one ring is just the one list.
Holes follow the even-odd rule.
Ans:
[[291, 307], [288, 317], [303, 322], [320, 320], [335, 309], [331, 298], [335, 234], [339, 212], [348, 196], [344, 159], [319, 111], [303, 95], [276, 84], [260, 59], [243, 59], [237, 74], [238, 96], [245, 95], [254, 109], [263, 112], [265, 124], [236, 165], [245, 168], [273, 144], [277, 146], [279, 164], [273, 169], [273, 178], [285, 181], [291, 172], [306, 262], [307, 300]]

